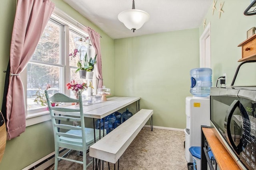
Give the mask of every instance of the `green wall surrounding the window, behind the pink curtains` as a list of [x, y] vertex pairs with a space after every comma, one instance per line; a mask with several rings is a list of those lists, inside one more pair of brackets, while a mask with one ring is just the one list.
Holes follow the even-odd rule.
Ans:
[[[102, 36], [100, 44], [102, 49], [103, 82], [106, 87], [114, 89], [114, 40], [62, 0], [52, 0], [52, 2], [55, 3], [56, 7], [66, 12], [78, 22], [100, 33]], [[1, 107], [6, 75], [3, 73], [3, 70], [6, 70], [10, 57], [10, 42], [15, 11], [15, 0], [4, 0], [1, 2], [0, 22], [4, 23], [0, 25], [0, 68], [2, 70], [0, 74], [0, 83], [2, 84], [0, 87]], [[114, 92], [112, 92], [112, 94], [114, 95]], [[22, 133], [20, 137], [7, 141], [4, 156], [0, 163], [0, 169], [20, 170], [53, 152], [54, 139], [52, 134], [51, 121], [26, 127], [26, 131]]]

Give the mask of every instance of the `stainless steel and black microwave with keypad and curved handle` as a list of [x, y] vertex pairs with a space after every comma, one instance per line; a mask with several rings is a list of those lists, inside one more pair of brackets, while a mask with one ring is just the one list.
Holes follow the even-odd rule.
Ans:
[[256, 170], [256, 88], [210, 90], [214, 133], [242, 169]]

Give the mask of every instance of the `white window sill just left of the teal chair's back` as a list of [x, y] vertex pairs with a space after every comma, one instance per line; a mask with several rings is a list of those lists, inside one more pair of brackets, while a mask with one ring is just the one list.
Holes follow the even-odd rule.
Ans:
[[27, 117], [26, 117], [26, 127], [31, 126], [31, 125], [35, 125], [37, 123], [42, 123], [44, 121], [48, 121], [50, 120], [50, 112], [47, 111], [41, 111], [38, 113], [30, 113]]

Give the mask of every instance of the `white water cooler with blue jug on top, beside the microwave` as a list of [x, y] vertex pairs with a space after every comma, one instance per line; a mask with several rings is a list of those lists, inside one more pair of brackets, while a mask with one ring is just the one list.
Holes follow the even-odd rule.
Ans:
[[186, 129], [184, 132], [185, 157], [188, 162], [193, 162], [189, 149], [201, 146], [201, 125], [210, 126], [209, 95], [212, 86], [212, 69], [194, 68], [190, 70], [190, 78], [190, 93], [193, 96], [186, 97]]

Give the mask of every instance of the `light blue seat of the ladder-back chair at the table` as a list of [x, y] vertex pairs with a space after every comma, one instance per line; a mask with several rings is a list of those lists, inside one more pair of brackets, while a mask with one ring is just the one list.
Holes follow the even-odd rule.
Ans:
[[[84, 128], [84, 129], [85, 129], [85, 135], [86, 135], [86, 139], [85, 139], [86, 145], [93, 144], [94, 143], [94, 129], [92, 129], [92, 128]], [[104, 131], [105, 131], [104, 135], [106, 135], [106, 129], [104, 129]], [[70, 131], [67, 131], [66, 133], [82, 136], [82, 131], [80, 131], [80, 130], [70, 130]], [[99, 136], [101, 136], [100, 138], [103, 137], [103, 130], [101, 130], [100, 135], [99, 135], [99, 130], [95, 129], [96, 141], [98, 141]], [[61, 136], [60, 141], [82, 146], [82, 139], [74, 139], [74, 138], [68, 138], [68, 137]]]

